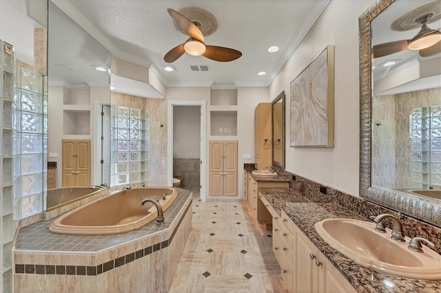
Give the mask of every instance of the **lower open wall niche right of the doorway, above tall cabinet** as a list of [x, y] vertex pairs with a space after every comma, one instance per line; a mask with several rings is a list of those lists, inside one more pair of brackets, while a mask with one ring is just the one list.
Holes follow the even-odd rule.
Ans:
[[237, 135], [237, 111], [210, 111], [211, 135]]

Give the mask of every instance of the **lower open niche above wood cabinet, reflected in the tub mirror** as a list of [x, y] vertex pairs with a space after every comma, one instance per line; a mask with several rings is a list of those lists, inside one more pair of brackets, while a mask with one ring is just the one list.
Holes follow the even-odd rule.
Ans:
[[90, 111], [64, 110], [63, 134], [90, 135]]

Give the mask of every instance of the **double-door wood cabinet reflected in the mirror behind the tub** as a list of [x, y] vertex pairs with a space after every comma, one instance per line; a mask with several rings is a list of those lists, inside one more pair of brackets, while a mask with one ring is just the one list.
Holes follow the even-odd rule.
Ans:
[[90, 140], [63, 140], [63, 186], [90, 185]]

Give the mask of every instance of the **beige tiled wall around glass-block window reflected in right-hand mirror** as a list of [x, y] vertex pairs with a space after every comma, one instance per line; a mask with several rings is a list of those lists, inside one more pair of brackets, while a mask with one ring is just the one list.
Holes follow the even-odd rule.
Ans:
[[372, 105], [372, 185], [409, 188], [409, 114], [413, 108], [441, 105], [441, 88], [373, 96]]

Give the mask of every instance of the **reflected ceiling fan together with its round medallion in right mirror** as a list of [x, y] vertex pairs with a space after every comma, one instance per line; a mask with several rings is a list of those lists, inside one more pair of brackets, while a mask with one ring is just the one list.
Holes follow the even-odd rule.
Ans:
[[432, 0], [406, 12], [393, 21], [391, 30], [406, 31], [420, 28], [410, 40], [393, 41], [373, 46], [373, 58], [383, 57], [402, 50], [418, 50], [420, 56], [429, 57], [441, 53], [440, 28], [431, 29], [427, 23], [441, 19], [441, 1]]

